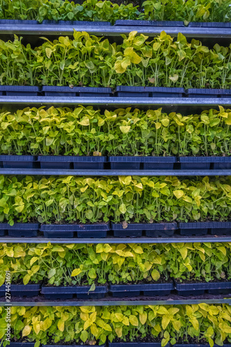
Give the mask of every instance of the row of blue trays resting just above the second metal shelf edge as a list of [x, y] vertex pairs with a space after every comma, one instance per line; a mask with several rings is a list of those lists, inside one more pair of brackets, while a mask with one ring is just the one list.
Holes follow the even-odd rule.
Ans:
[[58, 87], [46, 85], [0, 85], [0, 96], [99, 96], [99, 97], [189, 97], [189, 98], [230, 98], [231, 90], [180, 87], [132, 87], [119, 85], [112, 91], [109, 87]]

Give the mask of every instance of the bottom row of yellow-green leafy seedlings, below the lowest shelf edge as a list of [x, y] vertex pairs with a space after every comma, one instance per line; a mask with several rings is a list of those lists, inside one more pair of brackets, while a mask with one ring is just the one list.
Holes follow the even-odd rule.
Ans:
[[[0, 307], [0, 338], [6, 333], [6, 310]], [[210, 347], [231, 341], [231, 307], [208, 305], [80, 306], [80, 307], [11, 307], [11, 328], [18, 340], [36, 341], [35, 347], [51, 339], [59, 341], [104, 344], [106, 339], [136, 341], [142, 337], [170, 341], [209, 342]], [[3, 346], [6, 346], [6, 340]]]

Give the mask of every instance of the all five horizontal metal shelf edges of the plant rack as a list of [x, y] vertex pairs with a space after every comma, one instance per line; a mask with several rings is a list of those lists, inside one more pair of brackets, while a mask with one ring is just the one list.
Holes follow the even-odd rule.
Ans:
[[[108, 37], [118, 37], [121, 34], [128, 34], [130, 31], [136, 30], [138, 33], [143, 33], [150, 37], [159, 35], [161, 31], [177, 37], [181, 32], [186, 37], [194, 37], [203, 42], [208, 42], [209, 45], [214, 45], [216, 42], [223, 44], [223, 42], [230, 42], [231, 28], [196, 28], [196, 27], [174, 27], [174, 26], [90, 26], [90, 25], [46, 25], [46, 24], [0, 24], [0, 37], [7, 39], [9, 36], [12, 38], [13, 34], [24, 35], [24, 40], [33, 40], [36, 42], [39, 37], [46, 35], [47, 37], [57, 37], [59, 35], [72, 35], [73, 29], [76, 31], [87, 31], [91, 35], [103, 35]], [[47, 96], [0, 96], [0, 105], [94, 105], [101, 108], [116, 108], [127, 105], [139, 106], [142, 108], [157, 108], [162, 107], [164, 112], [178, 112], [186, 111], [190, 108], [190, 112], [194, 110], [205, 110], [209, 107], [217, 108], [218, 105], [231, 108], [231, 98], [89, 98], [89, 97], [47, 97]], [[51, 170], [51, 169], [0, 169], [0, 174], [3, 175], [71, 175], [71, 176], [118, 176], [118, 175], [132, 175], [132, 176], [231, 176], [231, 170], [190, 170], [190, 171], [115, 171], [115, 170], [101, 170], [92, 172], [89, 170]], [[98, 243], [176, 243], [176, 242], [231, 242], [230, 236], [209, 236], [206, 237], [166, 237], [166, 238], [104, 238], [104, 239], [46, 239], [44, 237], [36, 238], [15, 238], [15, 237], [0, 237], [0, 242], [6, 243], [47, 243], [53, 244], [98, 244]], [[178, 305], [178, 304], [196, 304], [196, 303], [231, 303], [231, 298], [225, 296], [216, 296], [216, 298], [207, 298], [200, 296], [194, 298], [171, 298], [167, 300], [144, 300], [141, 298], [131, 298], [130, 300], [121, 299], [101, 299], [97, 301], [78, 301], [78, 299], [65, 300], [65, 301], [26, 301], [24, 298], [21, 301], [14, 299], [11, 303], [6, 303], [0, 298], [0, 306], [106, 306], [106, 305]]]

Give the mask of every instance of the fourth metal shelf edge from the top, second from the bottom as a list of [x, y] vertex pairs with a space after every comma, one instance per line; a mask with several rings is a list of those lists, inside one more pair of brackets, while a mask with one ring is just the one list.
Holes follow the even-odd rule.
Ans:
[[227, 236], [172, 236], [172, 237], [104, 237], [101, 239], [46, 238], [46, 237], [0, 237], [0, 243], [10, 244], [177, 244], [185, 242], [231, 242]]

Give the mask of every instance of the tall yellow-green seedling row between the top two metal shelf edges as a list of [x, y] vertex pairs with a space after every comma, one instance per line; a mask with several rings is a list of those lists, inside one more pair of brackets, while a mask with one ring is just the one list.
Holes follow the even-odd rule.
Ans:
[[74, 39], [44, 38], [42, 46], [0, 40], [2, 85], [153, 85], [228, 88], [231, 85], [231, 44], [213, 49], [181, 33], [174, 41], [164, 31], [153, 40], [132, 31], [122, 44], [74, 31]]

